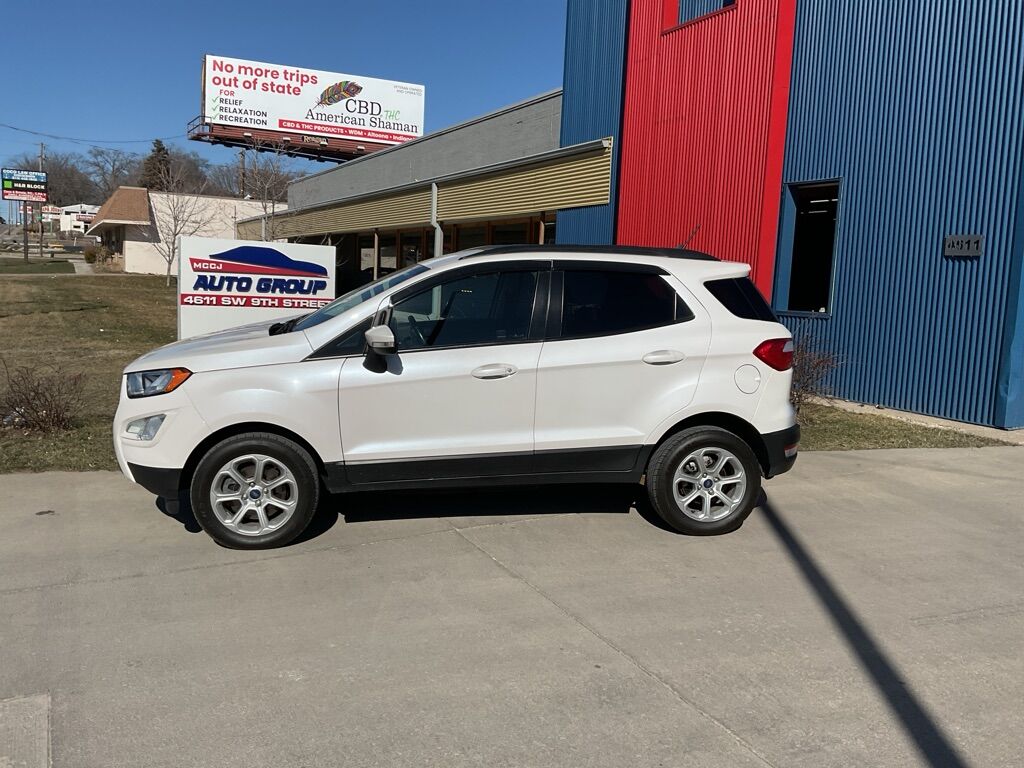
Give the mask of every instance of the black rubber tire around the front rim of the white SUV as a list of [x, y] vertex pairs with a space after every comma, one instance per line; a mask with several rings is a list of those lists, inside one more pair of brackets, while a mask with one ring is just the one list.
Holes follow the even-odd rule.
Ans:
[[[210, 492], [214, 481], [218, 480], [221, 468], [232, 459], [240, 459], [248, 455], [260, 455], [271, 459], [272, 462], [267, 462], [269, 469], [266, 470], [266, 473], [268, 475], [276, 471], [273, 464], [280, 463], [294, 477], [294, 493], [296, 494], [294, 507], [291, 509], [290, 515], [286, 516], [284, 521], [280, 523], [280, 526], [268, 532], [245, 534], [230, 528], [220, 519], [211, 503]], [[242, 473], [244, 479], [247, 478], [246, 464], [240, 465], [238, 470]], [[253, 474], [255, 476], [255, 472]], [[280, 476], [281, 474], [278, 475], [278, 477]], [[226, 482], [227, 484], [223, 487], [227, 489], [232, 489], [233, 484], [237, 484], [231, 483], [230, 479], [225, 478], [223, 475], [220, 475], [218, 481]], [[291, 494], [293, 493], [291, 485], [292, 483], [286, 480], [284, 490], [275, 490], [273, 493], [287, 495], [287, 502], [291, 499]], [[255, 483], [250, 480], [249, 486], [255, 487]], [[246, 493], [248, 492], [244, 487], [240, 488], [240, 499], [244, 498]], [[189, 498], [196, 519], [217, 544], [230, 549], [270, 549], [272, 547], [283, 547], [289, 542], [294, 541], [306, 529], [306, 526], [309, 525], [310, 520], [312, 520], [316, 512], [316, 505], [319, 502], [319, 479], [316, 472], [316, 464], [304, 447], [287, 437], [269, 432], [248, 432], [236, 435], [218, 442], [200, 461], [193, 475]], [[261, 503], [263, 501], [267, 502], [265, 514], [268, 517], [285, 513], [284, 508], [279, 508], [274, 505], [271, 492], [264, 492], [261, 497]], [[241, 509], [241, 501], [233, 504], [237, 505], [237, 509]], [[229, 512], [231, 509], [228, 508], [227, 511]], [[247, 513], [240, 527], [260, 527], [256, 514], [255, 511], [251, 514]], [[272, 524], [274, 518], [269, 517], [269, 519]], [[245, 520], [249, 520], [249, 522], [245, 522]]]

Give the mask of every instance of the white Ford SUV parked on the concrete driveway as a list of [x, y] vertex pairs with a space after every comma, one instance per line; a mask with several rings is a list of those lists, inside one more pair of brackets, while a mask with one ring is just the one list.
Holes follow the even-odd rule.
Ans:
[[750, 267], [674, 249], [494, 247], [125, 369], [114, 444], [220, 544], [280, 546], [322, 489], [645, 482], [738, 527], [788, 470], [793, 341]]

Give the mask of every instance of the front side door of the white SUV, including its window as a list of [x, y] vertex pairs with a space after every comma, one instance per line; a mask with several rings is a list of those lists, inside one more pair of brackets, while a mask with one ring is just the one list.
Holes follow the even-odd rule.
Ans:
[[543, 334], [535, 304], [547, 274], [538, 262], [471, 266], [378, 313], [397, 352], [351, 357], [341, 371], [349, 482], [529, 470]]

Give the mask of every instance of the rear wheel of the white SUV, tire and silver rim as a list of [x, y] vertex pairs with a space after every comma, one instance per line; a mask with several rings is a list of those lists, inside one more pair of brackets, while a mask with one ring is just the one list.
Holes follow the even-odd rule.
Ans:
[[761, 466], [754, 452], [718, 427], [692, 427], [673, 435], [647, 465], [647, 495], [654, 511], [683, 534], [735, 530], [760, 493]]

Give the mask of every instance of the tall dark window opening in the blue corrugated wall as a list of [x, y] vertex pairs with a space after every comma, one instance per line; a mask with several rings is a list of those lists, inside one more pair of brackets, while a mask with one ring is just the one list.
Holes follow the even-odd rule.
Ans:
[[[792, 232], [786, 262], [790, 274], [782, 309], [792, 312], [827, 312], [831, 301], [833, 264], [836, 257], [836, 220], [839, 182], [791, 184], [786, 206]], [[780, 256], [785, 258], [785, 243]], [[780, 297], [782, 298], [782, 297]]]

